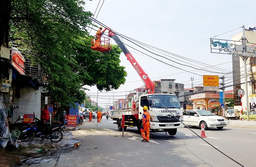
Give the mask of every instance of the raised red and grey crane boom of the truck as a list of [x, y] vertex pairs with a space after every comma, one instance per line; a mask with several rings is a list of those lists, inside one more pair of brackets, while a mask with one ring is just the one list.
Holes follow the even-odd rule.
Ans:
[[[112, 37], [116, 44], [120, 47], [126, 58], [131, 62], [131, 64], [134, 66], [140, 77], [142, 78], [143, 82], [146, 85], [146, 89], [149, 90], [148, 93], [154, 93], [155, 92], [155, 84], [153, 81], [149, 78], [148, 74], [143, 70], [141, 65], [137, 62], [135, 57], [132, 55], [132, 53], [125, 47], [123, 42], [121, 42], [120, 38], [109, 28], [108, 36]], [[105, 29], [103, 30], [105, 31]]]

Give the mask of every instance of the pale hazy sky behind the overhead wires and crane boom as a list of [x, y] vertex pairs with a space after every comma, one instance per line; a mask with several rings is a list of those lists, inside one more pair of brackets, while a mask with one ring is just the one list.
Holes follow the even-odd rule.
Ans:
[[[125, 36], [119, 37], [151, 80], [175, 79], [184, 88], [203, 85], [203, 75], [224, 76], [225, 84], [232, 85], [232, 57], [212, 53], [210, 38], [231, 40], [242, 25], [245, 29], [256, 26], [254, 0], [84, 1], [84, 10], [97, 20], [95, 25]], [[87, 29], [95, 35], [98, 28]], [[110, 43], [116, 44], [113, 39]], [[90, 89], [87, 95], [102, 107], [144, 85], [123, 53], [120, 60], [128, 73], [124, 85], [109, 92], [85, 86]]]

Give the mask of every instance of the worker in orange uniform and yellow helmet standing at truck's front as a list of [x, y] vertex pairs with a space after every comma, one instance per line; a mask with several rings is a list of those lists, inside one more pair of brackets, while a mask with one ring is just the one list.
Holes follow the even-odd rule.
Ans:
[[[150, 131], [150, 113], [148, 112], [148, 107], [145, 105], [143, 107], [143, 115], [142, 115], [142, 127], [141, 127], [141, 133], [143, 137], [143, 142], [147, 141], [149, 142], [149, 131]], [[145, 134], [146, 131], [146, 134]]]

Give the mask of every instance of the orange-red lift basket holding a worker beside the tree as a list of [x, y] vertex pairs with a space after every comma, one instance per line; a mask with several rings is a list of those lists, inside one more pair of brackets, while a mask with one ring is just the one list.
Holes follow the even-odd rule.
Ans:
[[91, 39], [91, 49], [98, 50], [101, 52], [111, 50], [109, 38], [101, 36], [102, 40], [100, 40], [100, 43], [97, 43], [95, 38], [96, 37], [93, 36], [93, 38]]

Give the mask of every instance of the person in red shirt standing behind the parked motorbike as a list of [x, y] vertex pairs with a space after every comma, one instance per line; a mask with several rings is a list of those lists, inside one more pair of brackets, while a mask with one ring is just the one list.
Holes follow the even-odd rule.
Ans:
[[44, 109], [41, 111], [41, 123], [39, 125], [40, 131], [45, 135], [47, 135], [50, 131], [50, 126], [48, 125], [50, 119], [48, 107], [48, 104], [44, 105]]

